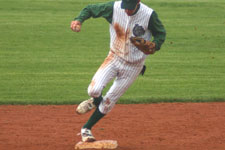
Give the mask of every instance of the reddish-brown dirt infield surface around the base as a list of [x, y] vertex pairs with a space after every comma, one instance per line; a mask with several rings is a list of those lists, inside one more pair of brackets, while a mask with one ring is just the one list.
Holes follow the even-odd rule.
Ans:
[[[91, 113], [75, 105], [1, 105], [0, 150], [73, 150]], [[92, 130], [118, 150], [225, 150], [225, 103], [116, 105]]]

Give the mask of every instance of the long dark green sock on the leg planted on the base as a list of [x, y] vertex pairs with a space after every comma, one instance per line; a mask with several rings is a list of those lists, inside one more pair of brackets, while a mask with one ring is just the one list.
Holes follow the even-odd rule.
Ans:
[[91, 129], [104, 116], [105, 114], [101, 113], [97, 107], [83, 128]]

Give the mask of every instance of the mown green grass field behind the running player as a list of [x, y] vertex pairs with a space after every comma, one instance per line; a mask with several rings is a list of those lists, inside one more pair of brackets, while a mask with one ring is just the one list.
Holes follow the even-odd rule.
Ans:
[[[70, 22], [107, 0], [0, 0], [0, 104], [76, 104], [109, 50], [109, 25]], [[225, 1], [144, 0], [167, 30], [120, 103], [225, 101]], [[107, 87], [104, 92], [108, 89]]]

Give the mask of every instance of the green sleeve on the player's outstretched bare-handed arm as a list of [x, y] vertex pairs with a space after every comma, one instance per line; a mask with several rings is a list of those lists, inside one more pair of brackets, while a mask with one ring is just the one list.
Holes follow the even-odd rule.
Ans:
[[93, 18], [103, 17], [111, 24], [113, 15], [113, 6], [114, 1], [87, 5], [74, 20], [78, 20], [81, 23], [83, 23], [90, 17]]

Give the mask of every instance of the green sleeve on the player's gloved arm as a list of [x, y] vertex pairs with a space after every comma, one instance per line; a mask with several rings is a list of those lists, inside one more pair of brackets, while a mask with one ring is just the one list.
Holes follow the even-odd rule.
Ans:
[[166, 39], [166, 30], [155, 11], [152, 12], [149, 19], [148, 29], [154, 37], [153, 42], [156, 43], [156, 50], [159, 50]]

